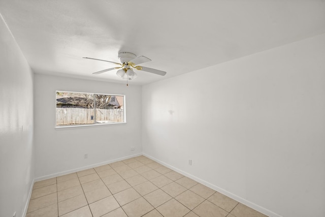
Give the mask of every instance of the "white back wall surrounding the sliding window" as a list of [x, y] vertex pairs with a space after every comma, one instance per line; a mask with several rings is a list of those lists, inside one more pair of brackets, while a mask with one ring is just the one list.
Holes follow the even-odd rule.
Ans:
[[[125, 95], [127, 123], [57, 130], [56, 90]], [[141, 86], [35, 74], [34, 97], [37, 179], [142, 152]]]

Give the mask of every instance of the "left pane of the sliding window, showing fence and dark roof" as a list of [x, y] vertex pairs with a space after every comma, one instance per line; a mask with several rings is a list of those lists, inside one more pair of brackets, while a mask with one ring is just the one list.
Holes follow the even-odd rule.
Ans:
[[93, 96], [56, 91], [56, 126], [94, 124]]

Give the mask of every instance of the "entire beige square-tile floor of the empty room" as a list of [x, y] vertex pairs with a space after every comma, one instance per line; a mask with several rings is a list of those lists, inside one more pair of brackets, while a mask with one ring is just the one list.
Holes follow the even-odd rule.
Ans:
[[144, 156], [35, 182], [26, 217], [266, 216]]

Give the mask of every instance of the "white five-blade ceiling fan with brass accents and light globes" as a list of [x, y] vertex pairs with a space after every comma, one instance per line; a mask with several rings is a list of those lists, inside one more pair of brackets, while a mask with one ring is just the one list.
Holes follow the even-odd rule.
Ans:
[[[99, 71], [99, 72], [92, 73], [92, 74], [95, 74], [95, 75], [102, 74], [104, 72], [108, 72], [108, 71], [111, 71], [111, 70], [119, 69], [116, 72], [116, 75], [118, 75], [122, 79], [133, 80], [133, 79], [135, 79], [137, 77], [137, 73], [135, 73], [132, 68], [137, 69], [137, 70], [142, 70], [142, 71], [145, 71], [145, 72], [150, 72], [150, 73], [153, 73], [153, 74], [156, 74], [156, 75], [161, 75], [161, 76], [166, 75], [166, 72], [161, 71], [161, 70], [152, 69], [152, 68], [143, 67], [143, 66], [138, 66], [139, 64], [143, 64], [143, 63], [147, 63], [148, 61], [151, 61], [151, 59], [149, 59], [148, 57], [145, 57], [145, 56], [138, 56], [137, 57], [136, 54], [130, 53], [130, 52], [120, 52], [120, 53], [118, 53], [118, 58], [120, 59], [121, 63], [115, 63], [115, 62], [109, 61], [109, 60], [95, 59], [95, 58], [90, 58], [90, 57], [83, 57], [83, 58], [106, 61], [108, 63], [119, 65], [119, 67], [114, 67], [114, 68], [105, 69], [105, 70], [102, 70], [102, 71]], [[128, 85], [128, 84], [126, 83], [126, 85]]]

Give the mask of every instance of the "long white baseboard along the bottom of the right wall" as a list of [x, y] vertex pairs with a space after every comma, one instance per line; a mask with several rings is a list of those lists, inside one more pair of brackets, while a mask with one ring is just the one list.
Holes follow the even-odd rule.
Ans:
[[162, 165], [164, 165], [164, 166], [166, 166], [166, 167], [168, 167], [168, 168], [170, 168], [170, 169], [172, 169], [172, 170], [174, 170], [174, 171], [176, 171], [176, 172], [178, 172], [178, 173], [180, 173], [180, 174], [182, 174], [184, 176], [187, 176], [187, 177], [189, 177], [189, 178], [191, 178], [193, 180], [196, 180], [197, 182], [199, 182], [201, 184], [204, 184], [207, 187], [209, 187], [209, 188], [211, 188], [211, 189], [213, 189], [213, 190], [215, 190], [215, 191], [217, 191], [217, 192], [219, 192], [219, 193], [221, 193], [221, 194], [223, 194], [225, 196], [228, 196], [228, 197], [230, 197], [230, 198], [232, 198], [232, 199], [234, 199], [234, 200], [236, 200], [236, 201], [238, 201], [238, 202], [240, 202], [240, 203], [242, 203], [242, 204], [244, 204], [244, 205], [246, 205], [246, 206], [248, 206], [248, 207], [250, 207], [252, 209], [255, 209], [255, 210], [257, 210], [257, 211], [259, 211], [259, 212], [261, 212], [261, 213], [263, 213], [263, 214], [265, 214], [265, 215], [267, 215], [269, 217], [282, 217], [281, 215], [276, 214], [276, 213], [272, 212], [271, 210], [268, 210], [268, 209], [266, 209], [264, 207], [261, 207], [261, 206], [255, 204], [255, 203], [252, 203], [252, 202], [250, 202], [248, 200], [245, 200], [244, 198], [241, 198], [241, 197], [239, 197], [239, 196], [237, 196], [237, 195], [235, 195], [235, 194], [233, 194], [231, 192], [228, 192], [228, 191], [226, 191], [226, 190], [224, 190], [222, 188], [219, 188], [216, 185], [211, 184], [211, 183], [209, 183], [209, 182], [207, 182], [207, 181], [205, 181], [205, 180], [203, 180], [201, 178], [193, 176], [193, 175], [191, 175], [191, 174], [189, 174], [187, 172], [184, 172], [184, 171], [182, 171], [182, 170], [180, 170], [180, 169], [178, 169], [176, 167], [173, 167], [173, 166], [171, 166], [169, 164], [166, 164], [165, 162], [162, 162], [162, 161], [160, 161], [160, 160], [158, 160], [158, 159], [156, 159], [156, 158], [154, 158], [152, 156], [149, 156], [149, 154], [146, 154], [146, 153], [142, 153], [142, 154], [143, 154], [143, 156], [145, 156], [145, 157], [147, 157], [147, 158], [149, 158], [149, 159], [151, 159], [153, 161], [156, 161], [159, 164], [162, 164]]

